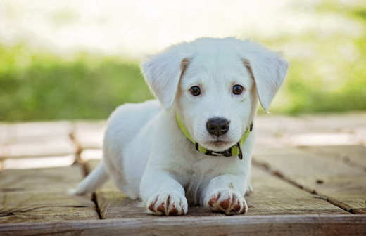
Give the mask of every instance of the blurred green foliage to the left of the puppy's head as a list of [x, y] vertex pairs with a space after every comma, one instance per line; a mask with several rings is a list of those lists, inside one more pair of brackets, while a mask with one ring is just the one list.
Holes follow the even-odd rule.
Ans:
[[87, 53], [72, 60], [0, 47], [0, 120], [106, 119], [152, 98], [137, 63]]

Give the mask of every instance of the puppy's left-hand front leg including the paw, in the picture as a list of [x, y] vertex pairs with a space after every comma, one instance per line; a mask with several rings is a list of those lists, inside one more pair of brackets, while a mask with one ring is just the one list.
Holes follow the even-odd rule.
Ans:
[[141, 180], [140, 194], [148, 211], [156, 215], [184, 215], [188, 204], [184, 188], [170, 173], [146, 170]]

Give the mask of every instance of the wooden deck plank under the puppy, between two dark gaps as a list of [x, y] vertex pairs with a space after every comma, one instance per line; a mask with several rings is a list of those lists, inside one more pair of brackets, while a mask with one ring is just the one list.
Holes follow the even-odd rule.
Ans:
[[[98, 161], [87, 162], [87, 169], [96, 167]], [[323, 199], [315, 198], [308, 192], [271, 176], [265, 171], [253, 168], [252, 184], [255, 192], [246, 197], [247, 215], [305, 215], [305, 214], [348, 214]], [[137, 207], [133, 201], [109, 181], [96, 192], [102, 218], [144, 218], [155, 217]], [[186, 216], [223, 216], [211, 213], [201, 206], [189, 206]]]

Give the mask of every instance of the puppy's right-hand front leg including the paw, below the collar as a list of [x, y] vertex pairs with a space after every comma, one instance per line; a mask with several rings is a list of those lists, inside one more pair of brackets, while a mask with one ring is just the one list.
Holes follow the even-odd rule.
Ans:
[[243, 185], [243, 178], [245, 176], [231, 174], [213, 178], [204, 191], [205, 208], [222, 211], [227, 215], [246, 213], [248, 206], [243, 196], [247, 186]]

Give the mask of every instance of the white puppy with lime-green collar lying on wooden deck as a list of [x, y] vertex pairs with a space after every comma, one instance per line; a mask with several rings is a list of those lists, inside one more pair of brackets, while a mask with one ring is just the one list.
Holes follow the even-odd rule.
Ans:
[[189, 204], [245, 213], [258, 98], [267, 111], [287, 67], [279, 53], [233, 38], [197, 39], [152, 55], [141, 70], [158, 100], [113, 112], [103, 162], [76, 194], [93, 192], [109, 176], [152, 214], [186, 214]]

